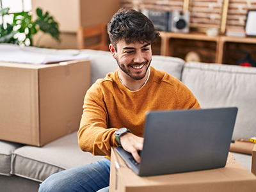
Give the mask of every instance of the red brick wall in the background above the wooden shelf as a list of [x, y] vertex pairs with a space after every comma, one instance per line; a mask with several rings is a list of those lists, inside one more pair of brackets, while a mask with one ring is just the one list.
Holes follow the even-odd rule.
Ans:
[[[182, 11], [183, 0], [120, 0], [126, 8], [138, 10]], [[191, 26], [217, 27], [221, 22], [223, 0], [190, 0]], [[229, 0], [227, 28], [244, 28], [248, 9], [256, 9], [256, 0]]]

